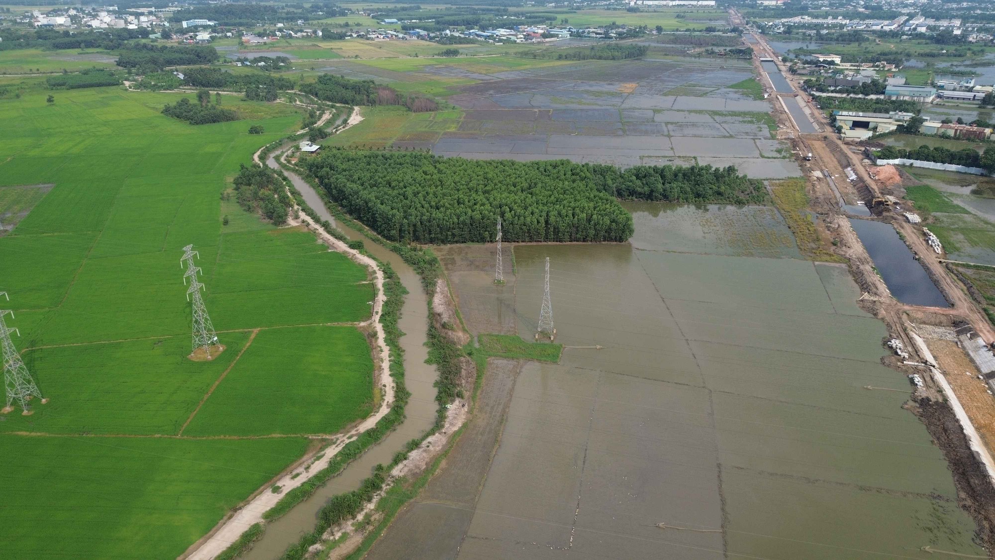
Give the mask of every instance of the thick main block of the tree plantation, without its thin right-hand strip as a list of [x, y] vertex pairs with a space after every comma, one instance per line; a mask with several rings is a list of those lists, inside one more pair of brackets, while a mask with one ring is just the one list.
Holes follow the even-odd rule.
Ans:
[[332, 200], [392, 241], [624, 241], [632, 216], [565, 160], [522, 163], [330, 149], [303, 165]]

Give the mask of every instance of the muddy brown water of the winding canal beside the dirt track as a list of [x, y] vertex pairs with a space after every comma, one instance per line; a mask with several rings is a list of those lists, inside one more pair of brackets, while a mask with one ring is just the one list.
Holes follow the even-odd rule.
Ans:
[[[270, 157], [267, 164], [277, 167], [277, 162]], [[405, 420], [373, 445], [362, 455], [345, 467], [337, 476], [317, 489], [309, 498], [299, 503], [294, 509], [280, 519], [268, 523], [263, 538], [253, 549], [242, 556], [248, 560], [273, 560], [279, 558], [299, 538], [314, 529], [318, 510], [328, 498], [342, 492], [354, 490], [359, 483], [369, 476], [378, 463], [389, 463], [394, 453], [401, 450], [405, 443], [415, 437], [420, 437], [435, 422], [436, 390], [433, 384], [438, 377], [434, 366], [425, 364], [428, 358], [428, 348], [425, 346], [428, 327], [428, 305], [425, 292], [422, 290], [421, 279], [410, 266], [397, 254], [378, 245], [359, 232], [336, 223], [335, 218], [327, 211], [320, 197], [307, 182], [297, 174], [284, 171], [294, 182], [303, 195], [304, 200], [322, 218], [328, 220], [341, 230], [349, 239], [363, 241], [366, 251], [381, 261], [390, 263], [397, 272], [401, 283], [408, 290], [404, 306], [401, 309], [399, 327], [404, 333], [401, 337], [401, 349], [404, 353], [404, 383], [411, 398], [405, 407]], [[397, 356], [394, 359], [398, 359]]]

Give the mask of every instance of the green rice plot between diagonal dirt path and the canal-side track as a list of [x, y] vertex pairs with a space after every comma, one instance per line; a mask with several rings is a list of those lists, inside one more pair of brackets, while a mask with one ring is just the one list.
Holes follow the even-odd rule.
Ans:
[[370, 414], [373, 360], [354, 327], [261, 331], [184, 431], [334, 433]]

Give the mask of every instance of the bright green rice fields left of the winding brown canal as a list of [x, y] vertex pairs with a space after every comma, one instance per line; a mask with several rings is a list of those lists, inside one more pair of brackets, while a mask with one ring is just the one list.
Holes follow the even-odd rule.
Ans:
[[[369, 413], [354, 324], [372, 285], [312, 234], [222, 200], [240, 163], [298, 128], [288, 106], [194, 127], [159, 114], [180, 95], [46, 95], [0, 100], [0, 192], [55, 184], [0, 196], [30, 206], [0, 237], [0, 305], [51, 399], [0, 420], [2, 555], [173, 558], [298, 459], [302, 434]], [[249, 136], [255, 124], [267, 134]], [[212, 362], [186, 358], [188, 243], [227, 348]]]

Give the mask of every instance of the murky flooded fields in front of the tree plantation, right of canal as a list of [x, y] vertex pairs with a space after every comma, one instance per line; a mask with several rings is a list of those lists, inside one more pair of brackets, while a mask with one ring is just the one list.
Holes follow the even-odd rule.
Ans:
[[504, 286], [494, 245], [437, 249], [470, 330], [525, 340], [549, 257], [565, 350], [490, 362], [368, 558], [984, 554], [846, 267], [798, 258], [768, 208], [627, 207], [631, 243], [505, 245]]

